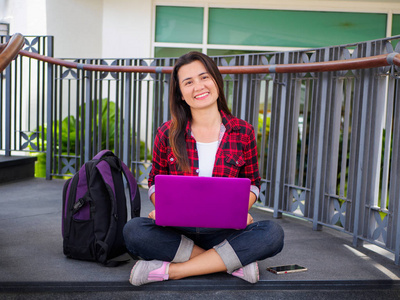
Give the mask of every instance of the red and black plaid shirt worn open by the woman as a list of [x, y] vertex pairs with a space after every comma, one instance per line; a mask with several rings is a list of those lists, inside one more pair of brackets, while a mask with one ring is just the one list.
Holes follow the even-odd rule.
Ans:
[[[225, 127], [215, 156], [213, 177], [246, 177], [251, 185], [260, 188], [258, 172], [257, 142], [252, 125], [234, 116], [220, 112], [222, 124]], [[191, 134], [190, 123], [186, 126], [186, 146], [188, 152], [190, 172], [178, 170], [176, 158], [169, 144], [169, 128], [171, 121], [165, 122], [158, 128], [154, 140], [153, 165], [149, 174], [149, 187], [154, 185], [157, 174], [198, 176], [199, 157], [196, 149], [196, 140]], [[256, 193], [257, 194], [257, 193]]]

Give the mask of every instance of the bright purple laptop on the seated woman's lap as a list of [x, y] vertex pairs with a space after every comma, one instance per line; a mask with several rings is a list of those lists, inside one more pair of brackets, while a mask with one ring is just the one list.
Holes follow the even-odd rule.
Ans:
[[247, 225], [250, 179], [157, 175], [156, 224], [242, 229]]

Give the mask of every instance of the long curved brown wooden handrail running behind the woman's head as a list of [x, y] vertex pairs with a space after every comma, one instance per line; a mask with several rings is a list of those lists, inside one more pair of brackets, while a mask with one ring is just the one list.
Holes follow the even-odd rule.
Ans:
[[[0, 51], [1, 47], [2, 45], [0, 45]], [[66, 61], [54, 57], [41, 55], [38, 53], [29, 52], [26, 50], [20, 50], [19, 54], [22, 56], [34, 58], [51, 64], [67, 68], [82, 69], [87, 71], [170, 74], [173, 68], [173, 67], [161, 67], [161, 66], [160, 67], [107, 66], [107, 65], [81, 64], [77, 62]], [[368, 69], [368, 68], [384, 67], [389, 65], [400, 66], [399, 53], [394, 52], [394, 53], [381, 54], [370, 57], [326, 61], [326, 62], [258, 65], [258, 66], [221, 66], [219, 67], [219, 70], [222, 74], [307, 73], [307, 72], [328, 72], [328, 71]]]

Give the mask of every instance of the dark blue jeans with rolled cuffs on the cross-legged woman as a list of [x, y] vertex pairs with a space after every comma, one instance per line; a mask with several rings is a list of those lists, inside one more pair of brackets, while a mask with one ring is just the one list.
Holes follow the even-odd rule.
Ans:
[[145, 260], [183, 262], [189, 259], [193, 244], [214, 248], [228, 273], [278, 254], [283, 248], [284, 233], [272, 221], [259, 221], [245, 229], [163, 227], [150, 218], [133, 218], [124, 227], [126, 247]]

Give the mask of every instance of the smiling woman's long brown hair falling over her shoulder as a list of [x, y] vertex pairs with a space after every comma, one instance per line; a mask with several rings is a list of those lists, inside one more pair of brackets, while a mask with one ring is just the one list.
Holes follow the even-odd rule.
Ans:
[[192, 120], [192, 113], [186, 101], [182, 101], [178, 71], [182, 66], [194, 61], [200, 61], [214, 80], [218, 89], [218, 109], [228, 115], [231, 114], [224, 94], [224, 81], [215, 62], [207, 55], [196, 51], [189, 52], [179, 57], [175, 63], [171, 76], [169, 103], [172, 120], [169, 141], [179, 167], [182, 171], [186, 172], [190, 171], [190, 164], [186, 151], [185, 131], [187, 122]]

